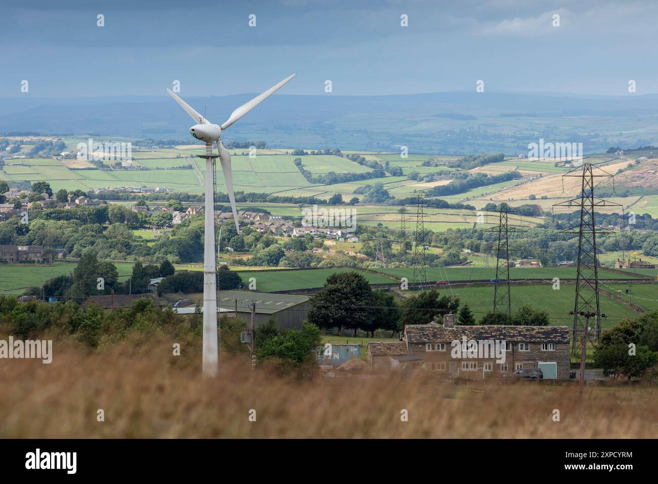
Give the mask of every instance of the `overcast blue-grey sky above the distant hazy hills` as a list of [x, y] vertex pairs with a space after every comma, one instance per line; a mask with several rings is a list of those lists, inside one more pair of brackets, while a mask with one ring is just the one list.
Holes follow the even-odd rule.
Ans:
[[485, 92], [628, 95], [635, 80], [648, 94], [657, 20], [652, 0], [13, 2], [0, 9], [0, 97], [163, 95], [174, 80], [182, 95], [241, 94], [292, 72], [282, 93], [324, 94], [325, 80], [341, 95], [484, 80]]

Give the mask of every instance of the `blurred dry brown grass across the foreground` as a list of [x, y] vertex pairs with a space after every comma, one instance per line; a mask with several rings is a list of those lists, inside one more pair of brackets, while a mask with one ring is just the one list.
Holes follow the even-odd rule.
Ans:
[[658, 437], [656, 387], [587, 387], [581, 397], [572, 383], [309, 381], [252, 373], [239, 358], [211, 380], [198, 348], [180, 357], [171, 348], [123, 342], [99, 353], [55, 341], [50, 365], [0, 360], [0, 437]]

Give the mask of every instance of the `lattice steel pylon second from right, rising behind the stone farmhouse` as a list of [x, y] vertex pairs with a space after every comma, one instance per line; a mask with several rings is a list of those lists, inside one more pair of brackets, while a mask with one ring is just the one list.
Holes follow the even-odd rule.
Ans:
[[510, 232], [523, 233], [525, 230], [509, 226], [507, 223], [509, 212], [515, 212], [515, 209], [507, 203], [501, 203], [496, 209], [499, 211], [498, 225], [484, 230], [484, 232], [498, 232], [495, 279], [493, 280], [493, 312], [511, 314], [512, 292], [509, 281], [509, 253], [517, 249], [509, 247], [509, 234]]

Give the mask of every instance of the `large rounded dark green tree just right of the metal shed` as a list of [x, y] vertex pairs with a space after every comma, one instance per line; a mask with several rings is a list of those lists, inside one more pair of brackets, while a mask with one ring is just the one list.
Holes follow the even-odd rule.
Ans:
[[330, 275], [324, 287], [311, 296], [308, 319], [323, 328], [365, 328], [372, 320], [372, 290], [361, 273], [349, 271]]

